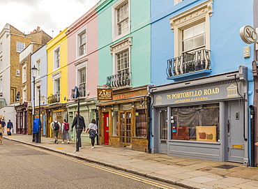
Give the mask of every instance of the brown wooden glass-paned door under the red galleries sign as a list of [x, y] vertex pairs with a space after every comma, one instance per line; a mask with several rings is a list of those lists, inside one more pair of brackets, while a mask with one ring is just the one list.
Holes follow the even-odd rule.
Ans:
[[120, 112], [119, 130], [120, 130], [120, 146], [126, 147], [132, 144], [131, 135], [131, 117], [130, 111]]

